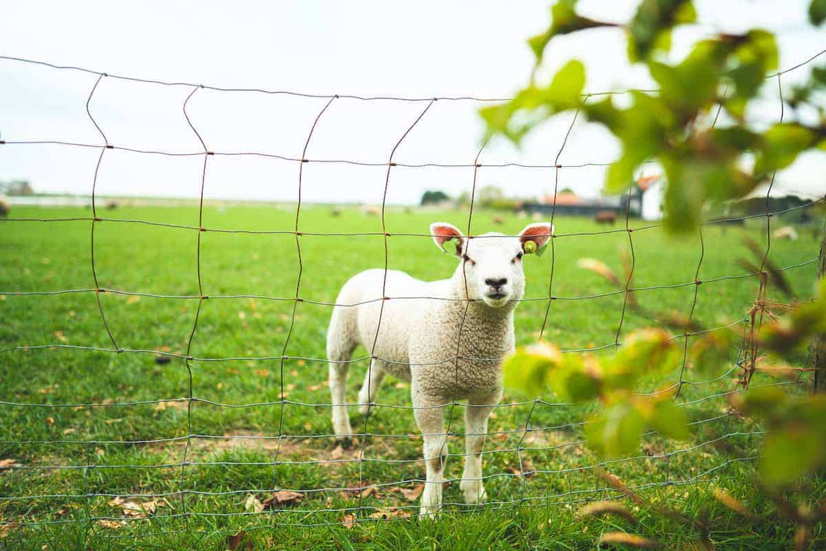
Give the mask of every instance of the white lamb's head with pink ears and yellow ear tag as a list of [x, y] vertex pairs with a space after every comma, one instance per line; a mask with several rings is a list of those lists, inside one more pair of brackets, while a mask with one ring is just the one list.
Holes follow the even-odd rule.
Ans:
[[[439, 249], [455, 240], [461, 260], [454, 277], [471, 300], [481, 300], [491, 308], [514, 305], [525, 294], [522, 256], [541, 248], [553, 235], [553, 225], [537, 222], [525, 226], [519, 235], [488, 233], [468, 238], [447, 222], [430, 225], [430, 235]], [[532, 243], [533, 245], [527, 245]]]

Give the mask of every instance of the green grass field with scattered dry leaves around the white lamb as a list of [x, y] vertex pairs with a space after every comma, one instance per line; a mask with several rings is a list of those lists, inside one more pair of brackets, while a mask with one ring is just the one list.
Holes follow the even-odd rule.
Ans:
[[[198, 226], [197, 207], [121, 207], [98, 214]], [[92, 215], [83, 208], [20, 207], [12, 216]], [[205, 207], [203, 226], [289, 231], [294, 216], [289, 207]], [[494, 226], [493, 216], [478, 211], [472, 233], [515, 233], [528, 223], [506, 216], [504, 226]], [[468, 223], [467, 213], [460, 211], [387, 211], [390, 268], [418, 278], [449, 277], [455, 259], [439, 253], [430, 238], [393, 235], [427, 233], [436, 220], [463, 229]], [[579, 218], [558, 217], [555, 222], [553, 254], [549, 250], [541, 258], [525, 259], [529, 300], [517, 310], [520, 344], [539, 337], [553, 265], [550, 292], [556, 300], [549, 303], [544, 338], [563, 349], [607, 345], [595, 354], [610, 354], [624, 295], [578, 268], [577, 259], [601, 259], [621, 274], [629, 236], [634, 287], [657, 287], [636, 292], [639, 302], [656, 311], [691, 310], [700, 260], [696, 237], [675, 240], [658, 228], [629, 235], [619, 226], [614, 233], [587, 235], [606, 228]], [[774, 227], [781, 223], [772, 219]], [[95, 287], [91, 224], [0, 222], [0, 460], [21, 465], [0, 471], [0, 520], [15, 524], [0, 526], [0, 549], [225, 549], [227, 536], [240, 530], [249, 535], [254, 546], [249, 549], [593, 549], [601, 532], [632, 529], [624, 520], [577, 515], [582, 502], [611, 494], [596, 477], [598, 460], [582, 444], [582, 420], [591, 406], [560, 405], [553, 395], [528, 401], [506, 392], [491, 417], [484, 460], [488, 506], [475, 510], [461, 505], [456, 478], [463, 439], [449, 439], [454, 455], [446, 476], [453, 483], [445, 489], [449, 505], [438, 522], [415, 518], [417, 502], [400, 490], [415, 489], [425, 474], [412, 412], [398, 407], [410, 405], [406, 383], [385, 382], [377, 397], [382, 406], [367, 420], [353, 408], [354, 428], [368, 436], [359, 436], [352, 448], [337, 447], [330, 437], [322, 361], [331, 308], [316, 302], [335, 302], [339, 287], [354, 273], [384, 266], [380, 218], [357, 209], [334, 217], [327, 207], [302, 207], [299, 226], [307, 234], [378, 235], [300, 237], [304, 300], [297, 303], [292, 332], [299, 276], [294, 235], [201, 232], [201, 284], [209, 298], [200, 301], [197, 230], [98, 222], [97, 278], [100, 287], [120, 291], [99, 297], [117, 347], [126, 349], [122, 354], [70, 348], [114, 348], [90, 291]], [[632, 221], [632, 226], [643, 225]], [[807, 228], [800, 230], [800, 240], [771, 244], [770, 259], [792, 267], [786, 274], [801, 293], [814, 283], [810, 261], [818, 254], [815, 233]], [[765, 246], [765, 219], [703, 231], [699, 278], [704, 283], [696, 287], [694, 316], [705, 327], [743, 321], [755, 298], [757, 278], [736, 264], [738, 258], [752, 258], [743, 235]], [[64, 290], [78, 292], [25, 294]], [[230, 295], [245, 297], [226, 297]], [[184, 360], [173, 356], [169, 363], [157, 363], [152, 351], [187, 354], [199, 302], [189, 350], [194, 358], [189, 363], [191, 392], [197, 400], [189, 402], [190, 370]], [[619, 340], [652, 323], [626, 311]], [[21, 348], [43, 344], [62, 347]], [[758, 427], [727, 415], [723, 394], [733, 388], [737, 353], [732, 350], [730, 362], [715, 377], [686, 369], [679, 401], [695, 422], [693, 441], [648, 436], [638, 455], [605, 468], [631, 486], [642, 486], [640, 492], [652, 502], [669, 503], [688, 515], [710, 515], [719, 549], [782, 549], [789, 546], [793, 525], [778, 520], [742, 530], [742, 519], [708, 497], [710, 486], [719, 484], [757, 511], [768, 506], [755, 493], [752, 463], [732, 461], [708, 443], [729, 435], [728, 443], [749, 456], [759, 442], [754, 434]], [[358, 349], [354, 357], [364, 354]], [[351, 367], [351, 401], [366, 368], [364, 361]], [[643, 390], [663, 382], [649, 380]], [[770, 382], [758, 376], [752, 384]], [[457, 406], [453, 432], [461, 434], [462, 419], [462, 406]], [[521, 476], [522, 470], [536, 472]], [[359, 482], [378, 485], [377, 491], [358, 496], [345, 490]], [[249, 510], [250, 495], [263, 501], [273, 489], [304, 492], [304, 498], [280, 507], [282, 511]], [[823, 488], [816, 492], [824, 493]], [[158, 495], [165, 501], [148, 518], [124, 517], [123, 507], [113, 500], [133, 494], [144, 496], [133, 501]], [[406, 508], [387, 511], [389, 507]], [[414, 515], [387, 522], [376, 518], [405, 511]], [[639, 514], [643, 525], [637, 532], [670, 548], [692, 537], [689, 529], [646, 511]], [[351, 515], [358, 524], [344, 525]], [[815, 545], [826, 542], [824, 534], [814, 536]]]

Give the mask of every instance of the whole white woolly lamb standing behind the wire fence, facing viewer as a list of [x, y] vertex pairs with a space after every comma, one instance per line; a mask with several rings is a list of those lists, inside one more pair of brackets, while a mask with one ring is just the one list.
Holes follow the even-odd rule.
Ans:
[[[373, 359], [358, 393], [359, 412], [368, 413], [387, 373], [411, 382], [415, 420], [425, 444], [422, 515], [434, 515], [442, 504], [447, 458], [443, 409], [453, 400], [468, 401], [460, 487], [468, 503], [486, 499], [482, 444], [487, 418], [502, 395], [501, 361], [514, 349], [513, 311], [525, 292], [521, 259], [545, 245], [553, 226], [540, 222], [526, 226], [517, 236], [489, 233], [466, 238], [455, 226], [436, 222], [430, 234], [439, 249], [456, 240], [460, 262], [452, 278], [424, 282], [388, 270], [382, 292], [383, 269], [358, 273], [339, 292], [339, 306], [333, 310], [327, 331], [333, 427], [338, 439], [353, 435], [345, 393], [349, 359], [358, 344]], [[530, 241], [533, 244], [526, 247]]]

